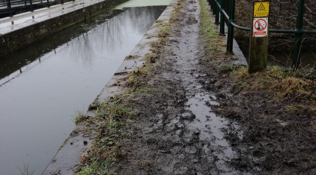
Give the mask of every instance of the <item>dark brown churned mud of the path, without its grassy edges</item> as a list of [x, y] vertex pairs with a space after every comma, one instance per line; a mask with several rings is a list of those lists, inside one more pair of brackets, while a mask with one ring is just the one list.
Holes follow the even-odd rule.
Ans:
[[289, 115], [263, 92], [240, 93], [210, 67], [199, 38], [200, 6], [186, 0], [165, 47], [159, 48], [154, 93], [129, 98], [128, 154], [117, 174], [316, 174], [314, 114]]

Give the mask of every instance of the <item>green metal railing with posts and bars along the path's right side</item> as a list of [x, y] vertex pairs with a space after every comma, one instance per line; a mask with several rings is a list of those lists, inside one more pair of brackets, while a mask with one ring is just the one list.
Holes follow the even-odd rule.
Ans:
[[[215, 15], [215, 23], [220, 24], [220, 33], [225, 34], [225, 18], [228, 20], [228, 35], [227, 35], [227, 51], [233, 53], [233, 41], [234, 41], [234, 28], [250, 31], [250, 28], [238, 26], [234, 23], [235, 20], [235, 1], [229, 0], [229, 15], [227, 15], [224, 6], [225, 0], [207, 0], [213, 9], [213, 15]], [[271, 33], [293, 33], [295, 34], [295, 45], [293, 47], [292, 63], [295, 68], [301, 64], [301, 44], [303, 34], [316, 34], [316, 31], [303, 30], [303, 16], [304, 16], [304, 0], [298, 2], [298, 14], [296, 20], [295, 30], [280, 30], [269, 29]]]

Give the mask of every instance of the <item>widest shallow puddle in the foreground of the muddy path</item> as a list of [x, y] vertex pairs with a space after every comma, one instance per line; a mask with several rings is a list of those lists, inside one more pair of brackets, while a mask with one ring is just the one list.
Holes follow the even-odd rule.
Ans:
[[[224, 138], [226, 133], [222, 130], [228, 130], [228, 126], [235, 129], [239, 126], [235, 122], [216, 116], [210, 110], [210, 105], [218, 105], [215, 100], [215, 96], [210, 96], [206, 92], [199, 92], [188, 97], [186, 110], [194, 114], [195, 119], [192, 122], [186, 122], [185, 125], [198, 134], [199, 139], [203, 141], [202, 150], [205, 155], [211, 154], [215, 157], [216, 167], [221, 171], [220, 174], [238, 174], [240, 172], [228, 164], [238, 155]], [[242, 139], [241, 132], [238, 136]]]

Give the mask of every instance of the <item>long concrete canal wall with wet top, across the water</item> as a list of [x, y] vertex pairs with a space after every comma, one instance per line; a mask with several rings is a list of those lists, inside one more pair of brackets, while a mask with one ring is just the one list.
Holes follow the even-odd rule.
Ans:
[[[6, 27], [0, 33], [0, 57], [22, 47], [26, 47], [40, 39], [126, 1], [128, 0], [90, 0], [78, 1], [76, 4], [74, 2], [68, 2], [69, 4], [73, 4], [72, 7], [78, 7], [68, 10], [65, 9], [66, 11], [59, 11], [36, 20], [27, 21], [24, 26], [20, 24], [21, 27], [15, 30], [10, 30], [10, 27]], [[59, 4], [57, 6], [62, 5]], [[12, 18], [12, 20], [14, 19]]]

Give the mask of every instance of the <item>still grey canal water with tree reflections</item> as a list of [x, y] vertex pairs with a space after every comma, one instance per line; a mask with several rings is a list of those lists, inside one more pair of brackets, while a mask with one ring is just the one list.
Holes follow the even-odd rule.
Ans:
[[165, 8], [120, 7], [1, 59], [0, 174], [44, 171]]

